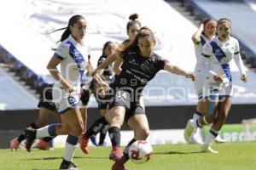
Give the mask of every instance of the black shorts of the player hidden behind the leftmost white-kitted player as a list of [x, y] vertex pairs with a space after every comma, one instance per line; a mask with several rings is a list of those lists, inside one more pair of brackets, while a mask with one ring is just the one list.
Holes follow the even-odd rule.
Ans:
[[42, 90], [39, 97], [38, 108], [45, 107], [51, 111], [55, 111], [55, 103], [52, 102], [52, 85], [47, 86]]

